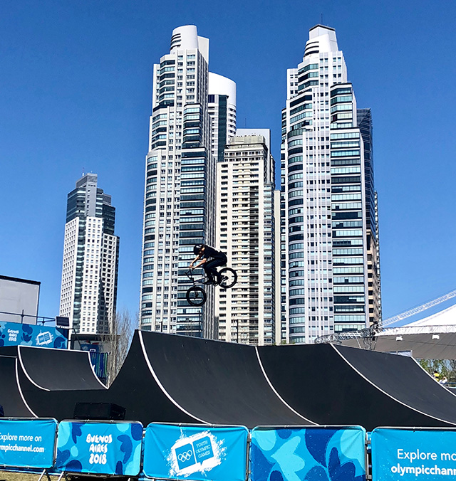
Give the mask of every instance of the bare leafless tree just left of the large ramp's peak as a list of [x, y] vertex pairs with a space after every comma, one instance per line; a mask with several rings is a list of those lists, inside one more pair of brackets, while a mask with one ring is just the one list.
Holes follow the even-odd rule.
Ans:
[[113, 384], [115, 376], [118, 375], [123, 361], [127, 357], [135, 327], [139, 323], [138, 319], [138, 313], [135, 315], [135, 319], [133, 319], [130, 312], [126, 309], [115, 312], [113, 321], [110, 323], [110, 334], [101, 336], [103, 350], [108, 352], [106, 363], [106, 382], [108, 386]]

